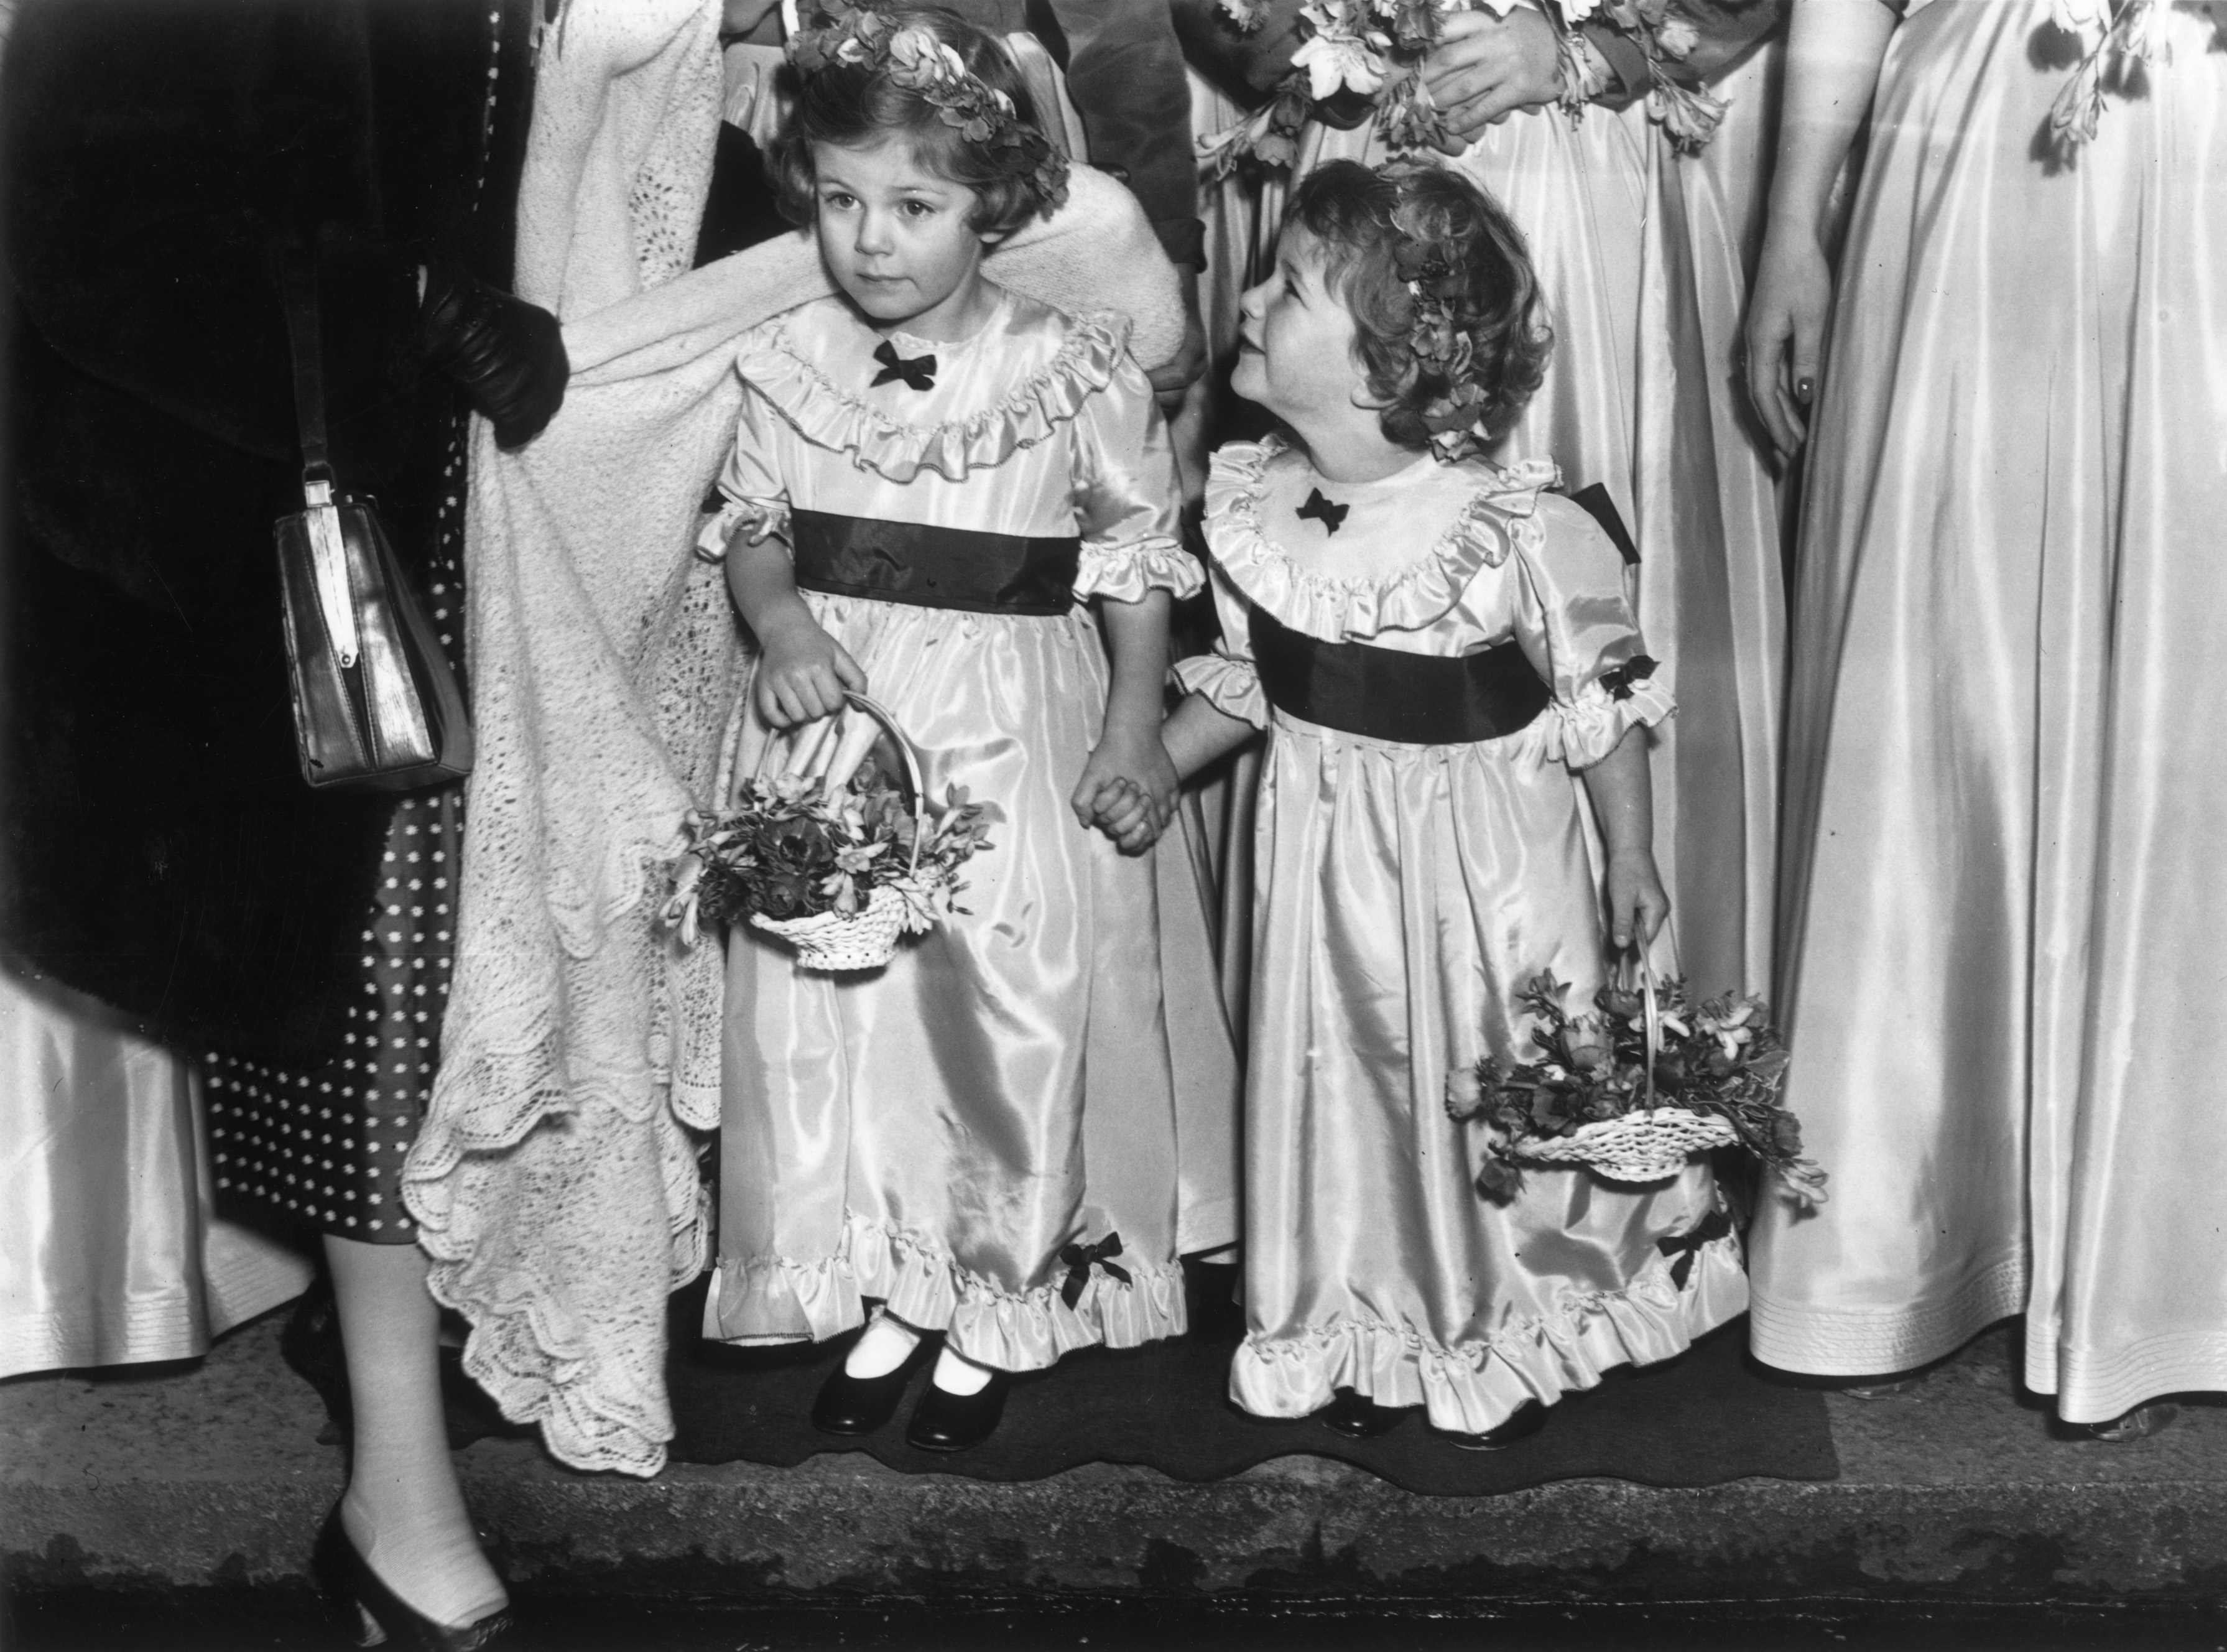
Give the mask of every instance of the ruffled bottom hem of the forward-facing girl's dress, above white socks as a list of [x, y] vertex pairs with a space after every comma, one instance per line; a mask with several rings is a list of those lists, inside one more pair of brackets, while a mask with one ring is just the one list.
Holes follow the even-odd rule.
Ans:
[[1140, 1347], [1187, 1329], [1183, 1267], [1118, 1258], [1129, 1285], [1091, 1269], [1069, 1307], [1058, 1285], [1004, 1291], [918, 1233], [864, 1216], [844, 1220], [842, 1249], [817, 1262], [722, 1258], [704, 1334], [730, 1343], [824, 1343], [866, 1322], [866, 1300], [946, 1347], [1000, 1371], [1040, 1371], [1078, 1347]]

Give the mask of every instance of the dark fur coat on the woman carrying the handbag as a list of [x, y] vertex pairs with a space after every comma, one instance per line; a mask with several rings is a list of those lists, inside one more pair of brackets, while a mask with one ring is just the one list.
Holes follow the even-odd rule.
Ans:
[[392, 810], [296, 766], [276, 254], [316, 254], [339, 481], [421, 559], [461, 474], [416, 272], [508, 281], [530, 22], [521, 0], [27, 0], [9, 38], [0, 920], [189, 1046], [334, 1053]]

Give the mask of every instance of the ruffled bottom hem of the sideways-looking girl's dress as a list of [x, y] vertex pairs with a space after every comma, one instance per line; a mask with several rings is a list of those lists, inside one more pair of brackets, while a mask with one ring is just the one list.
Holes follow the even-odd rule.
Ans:
[[1229, 1398], [1254, 1416], [1312, 1416], [1334, 1389], [1352, 1387], [1379, 1405], [1423, 1405], [1436, 1429], [1483, 1434], [1525, 1400], [1554, 1405], [1619, 1365], [1675, 1358], [1746, 1307], [1748, 1276], [1728, 1236], [1693, 1253], [1684, 1287], [1670, 1278], [1670, 1258], [1657, 1256], [1621, 1291], [1572, 1294], [1550, 1318], [1461, 1347], [1381, 1320], [1247, 1336], [1229, 1365]]

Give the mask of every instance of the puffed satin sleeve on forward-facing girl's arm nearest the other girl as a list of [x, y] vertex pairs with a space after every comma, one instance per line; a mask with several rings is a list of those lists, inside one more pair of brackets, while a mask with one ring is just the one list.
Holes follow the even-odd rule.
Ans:
[[1073, 443], [1082, 532], [1076, 597], [1134, 603], [1154, 590], [1196, 592], [1198, 561], [1176, 537], [1176, 450], [1151, 383], [1127, 352], [1105, 387], [1076, 410]]

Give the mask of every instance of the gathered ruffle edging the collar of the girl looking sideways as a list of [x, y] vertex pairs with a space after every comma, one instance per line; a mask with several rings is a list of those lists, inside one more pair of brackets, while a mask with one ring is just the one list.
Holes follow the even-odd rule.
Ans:
[[1207, 476], [1214, 561], [1256, 608], [1330, 643], [1430, 626], [1461, 601], [1479, 570], [1499, 568], [1519, 548], [1537, 552], [1546, 543], [1539, 494], [1561, 476], [1546, 459], [1490, 470], [1423, 557], [1387, 579], [1330, 579], [1301, 568], [1260, 528], [1267, 465], [1281, 452], [1285, 443], [1267, 436], [1214, 454]]

